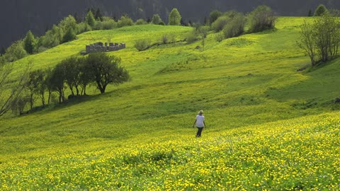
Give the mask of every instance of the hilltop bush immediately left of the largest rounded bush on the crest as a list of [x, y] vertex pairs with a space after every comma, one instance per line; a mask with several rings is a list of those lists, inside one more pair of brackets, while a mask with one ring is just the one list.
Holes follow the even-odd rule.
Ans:
[[242, 13], [238, 13], [237, 16], [231, 18], [230, 21], [225, 25], [222, 33], [225, 38], [237, 37], [244, 33], [244, 25], [246, 24], [246, 19]]

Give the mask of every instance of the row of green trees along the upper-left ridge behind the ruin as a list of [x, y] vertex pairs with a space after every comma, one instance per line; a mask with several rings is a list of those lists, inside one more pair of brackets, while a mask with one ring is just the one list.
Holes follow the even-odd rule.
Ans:
[[[113, 28], [121, 28], [128, 25], [143, 25], [147, 23], [165, 25], [162, 18], [155, 14], [150, 21], [139, 19], [133, 23], [129, 16], [121, 16], [120, 19], [103, 16], [100, 9], [94, 11], [89, 9], [86, 13], [84, 21], [75, 14], [62, 19], [59, 24], [53, 25], [50, 30], [47, 30], [45, 35], [35, 37], [31, 31], [28, 31], [23, 40], [13, 42], [6, 50], [1, 51], [1, 57], [7, 62], [13, 62], [17, 59], [26, 57], [28, 54], [42, 52], [48, 48], [55, 47], [64, 42], [72, 41], [77, 34], [84, 33], [89, 30], [110, 30]], [[169, 14], [169, 25], [180, 25], [181, 15], [174, 8]], [[3, 54], [3, 55], [2, 55]]]

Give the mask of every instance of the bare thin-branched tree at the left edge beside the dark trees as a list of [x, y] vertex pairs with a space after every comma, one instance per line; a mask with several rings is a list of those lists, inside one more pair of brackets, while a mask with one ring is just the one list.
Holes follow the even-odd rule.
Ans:
[[23, 73], [18, 75], [16, 81], [11, 82], [10, 80], [13, 80], [11, 78], [13, 64], [0, 60], [0, 117], [11, 109], [13, 102], [18, 100], [18, 97], [23, 93], [31, 64], [32, 61], [28, 62]]

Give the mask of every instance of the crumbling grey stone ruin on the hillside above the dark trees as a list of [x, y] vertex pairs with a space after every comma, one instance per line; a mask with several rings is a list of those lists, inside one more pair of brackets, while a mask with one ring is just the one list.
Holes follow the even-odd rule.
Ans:
[[86, 45], [86, 50], [81, 52], [81, 55], [86, 55], [92, 52], [112, 52], [125, 48], [125, 43], [108, 43], [96, 42], [91, 45]]

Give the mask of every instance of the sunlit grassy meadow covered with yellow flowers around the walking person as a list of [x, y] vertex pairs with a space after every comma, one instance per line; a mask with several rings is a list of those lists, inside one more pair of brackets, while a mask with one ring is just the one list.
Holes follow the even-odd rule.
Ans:
[[[339, 59], [310, 62], [297, 47], [305, 19], [217, 42], [138, 52], [135, 40], [183, 40], [192, 28], [135, 25], [83, 33], [14, 63], [46, 69], [93, 42], [132, 80], [79, 102], [0, 121], [0, 190], [336, 190], [340, 187]], [[36, 105], [39, 106], [37, 102]], [[204, 110], [207, 128], [192, 128]]]

